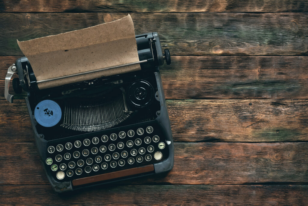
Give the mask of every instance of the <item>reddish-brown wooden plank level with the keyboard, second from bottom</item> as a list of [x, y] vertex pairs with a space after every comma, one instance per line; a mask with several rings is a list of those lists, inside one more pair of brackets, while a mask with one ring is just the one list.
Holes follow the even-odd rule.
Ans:
[[[49, 184], [34, 143], [0, 143], [0, 184]], [[175, 143], [167, 175], [122, 184], [308, 183], [308, 143]]]

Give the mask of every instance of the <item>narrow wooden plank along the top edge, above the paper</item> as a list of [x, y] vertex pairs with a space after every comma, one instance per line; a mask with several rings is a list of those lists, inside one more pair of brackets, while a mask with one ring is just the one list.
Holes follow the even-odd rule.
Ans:
[[254, 1], [47, 1], [10, 0], [0, 4], [0, 12], [307, 12], [308, 3], [302, 0]]

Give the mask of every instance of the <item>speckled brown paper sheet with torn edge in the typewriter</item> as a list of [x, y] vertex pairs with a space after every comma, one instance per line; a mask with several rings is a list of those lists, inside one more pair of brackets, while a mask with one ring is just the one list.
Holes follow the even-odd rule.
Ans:
[[[81, 30], [18, 41], [36, 80], [45, 80], [139, 61], [131, 16]], [[39, 83], [46, 89], [140, 70], [140, 64]]]

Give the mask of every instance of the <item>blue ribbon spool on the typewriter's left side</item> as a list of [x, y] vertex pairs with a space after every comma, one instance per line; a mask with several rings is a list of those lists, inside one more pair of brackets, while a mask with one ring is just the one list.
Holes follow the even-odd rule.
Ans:
[[52, 100], [43, 100], [34, 109], [35, 120], [44, 127], [58, 124], [62, 116], [60, 106]]

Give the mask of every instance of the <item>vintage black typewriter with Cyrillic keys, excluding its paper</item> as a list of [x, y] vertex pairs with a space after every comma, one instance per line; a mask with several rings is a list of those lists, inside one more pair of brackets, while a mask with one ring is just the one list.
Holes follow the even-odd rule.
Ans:
[[140, 61], [112, 68], [140, 64], [141, 70], [49, 89], [38, 88], [26, 57], [8, 68], [5, 97], [13, 102], [9, 86], [16, 72], [12, 86], [15, 93], [27, 92], [36, 145], [56, 192], [172, 169], [172, 133], [159, 73], [159, 65], [171, 63], [170, 53], [163, 54], [156, 32], [136, 35], [136, 43]]

